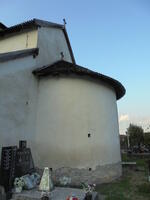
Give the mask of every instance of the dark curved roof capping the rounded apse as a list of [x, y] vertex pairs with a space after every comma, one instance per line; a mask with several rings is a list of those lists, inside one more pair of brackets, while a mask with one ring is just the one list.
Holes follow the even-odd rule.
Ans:
[[126, 92], [124, 86], [119, 81], [64, 60], [58, 61], [52, 65], [38, 68], [33, 71], [33, 74], [36, 76], [58, 76], [61, 74], [76, 74], [79, 76], [89, 76], [91, 78], [98, 79], [114, 88], [117, 100], [123, 97]]

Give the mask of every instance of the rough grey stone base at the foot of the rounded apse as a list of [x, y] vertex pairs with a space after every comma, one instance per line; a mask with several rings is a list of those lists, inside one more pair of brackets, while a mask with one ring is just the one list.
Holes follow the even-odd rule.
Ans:
[[108, 183], [120, 177], [121, 174], [121, 162], [118, 162], [111, 165], [97, 166], [95, 170], [91, 169], [91, 171], [89, 169], [62, 167], [52, 171], [52, 178], [56, 185], [61, 185], [60, 180], [65, 177], [65, 179], [68, 179], [68, 184], [66, 185], [80, 186], [81, 182]]

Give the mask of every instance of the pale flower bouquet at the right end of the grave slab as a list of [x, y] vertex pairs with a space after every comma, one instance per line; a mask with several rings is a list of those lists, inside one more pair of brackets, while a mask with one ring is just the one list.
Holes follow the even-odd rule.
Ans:
[[83, 187], [83, 190], [85, 191], [84, 200], [91, 200], [92, 192], [95, 191], [96, 184], [81, 183], [81, 186]]

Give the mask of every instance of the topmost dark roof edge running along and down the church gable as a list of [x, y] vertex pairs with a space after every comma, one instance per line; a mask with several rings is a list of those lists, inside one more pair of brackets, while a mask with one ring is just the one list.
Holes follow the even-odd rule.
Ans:
[[53, 27], [53, 28], [62, 29], [62, 31], [64, 32], [64, 35], [65, 35], [65, 39], [66, 39], [69, 51], [70, 51], [72, 62], [75, 63], [75, 58], [73, 55], [69, 37], [68, 37], [65, 26], [62, 24], [48, 22], [48, 21], [44, 21], [44, 20], [40, 20], [40, 19], [32, 19], [30, 21], [26, 21], [26, 22], [23, 22], [23, 23], [14, 25], [14, 26], [6, 27], [5, 29], [0, 30], [0, 38], [8, 36], [9, 34], [12, 34], [12, 33], [19, 33], [24, 30], [29, 30], [29, 29], [38, 28], [38, 27]]

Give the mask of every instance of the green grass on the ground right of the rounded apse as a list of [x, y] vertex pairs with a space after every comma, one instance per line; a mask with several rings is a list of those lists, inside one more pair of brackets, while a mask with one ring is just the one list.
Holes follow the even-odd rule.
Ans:
[[150, 200], [147, 158], [124, 155], [122, 160], [136, 161], [137, 165], [134, 169], [124, 167], [121, 178], [109, 184], [98, 185], [96, 191], [106, 195], [106, 200]]

